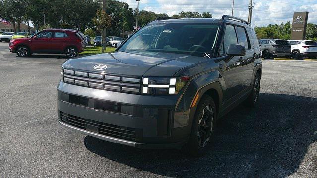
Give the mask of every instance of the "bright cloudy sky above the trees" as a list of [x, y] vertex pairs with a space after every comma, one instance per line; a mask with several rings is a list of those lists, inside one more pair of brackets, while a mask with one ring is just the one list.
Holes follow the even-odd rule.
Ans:
[[[131, 8], [137, 7], [136, 0], [127, 2]], [[141, 0], [139, 10], [166, 13], [169, 16], [181, 11], [210, 12], [213, 18], [231, 15], [233, 0]], [[249, 0], [235, 0], [236, 17], [248, 20]], [[317, 23], [317, 0], [253, 0], [252, 26], [266, 26], [292, 21], [294, 12], [308, 11], [308, 22]]]

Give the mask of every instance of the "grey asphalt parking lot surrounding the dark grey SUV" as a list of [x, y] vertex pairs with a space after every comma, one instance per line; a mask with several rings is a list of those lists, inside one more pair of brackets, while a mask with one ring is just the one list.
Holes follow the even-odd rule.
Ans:
[[317, 61], [263, 61], [259, 105], [217, 123], [208, 154], [142, 150], [58, 124], [63, 55], [0, 43], [0, 177], [317, 177]]

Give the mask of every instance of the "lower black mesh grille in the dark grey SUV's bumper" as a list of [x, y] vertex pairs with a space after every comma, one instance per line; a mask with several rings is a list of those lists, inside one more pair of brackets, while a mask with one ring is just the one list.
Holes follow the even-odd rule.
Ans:
[[98, 122], [90, 119], [79, 118], [60, 112], [61, 121], [87, 131], [99, 133], [114, 138], [120, 138], [129, 141], [135, 141], [135, 129], [128, 127], [121, 127], [117, 125]]

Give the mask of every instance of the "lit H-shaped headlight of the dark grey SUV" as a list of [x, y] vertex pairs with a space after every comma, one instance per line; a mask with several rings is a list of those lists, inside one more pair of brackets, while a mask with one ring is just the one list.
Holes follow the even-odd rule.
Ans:
[[144, 77], [142, 79], [142, 94], [177, 95], [189, 79], [189, 76], [178, 78]]

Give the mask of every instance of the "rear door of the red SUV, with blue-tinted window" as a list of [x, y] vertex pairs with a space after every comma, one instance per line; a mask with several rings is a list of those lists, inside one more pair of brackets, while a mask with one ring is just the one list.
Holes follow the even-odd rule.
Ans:
[[67, 44], [70, 43], [70, 37], [65, 32], [56, 31], [52, 38], [52, 52], [63, 53]]

